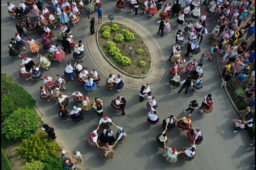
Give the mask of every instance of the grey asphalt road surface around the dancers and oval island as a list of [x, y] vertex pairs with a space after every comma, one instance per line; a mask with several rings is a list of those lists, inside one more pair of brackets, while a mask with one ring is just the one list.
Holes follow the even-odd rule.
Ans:
[[[170, 2], [170, 1], [167, 1]], [[174, 1], [171, 1], [173, 3]], [[100, 149], [92, 148], [87, 143], [88, 135], [97, 128], [98, 116], [96, 113], [89, 111], [85, 113], [84, 120], [78, 122], [77, 124], [73, 121], [61, 121], [57, 116], [59, 112], [59, 107], [57, 103], [52, 100], [50, 102], [42, 101], [39, 98], [39, 89], [43, 85], [43, 81], [38, 82], [30, 81], [19, 78], [19, 64], [21, 60], [18, 58], [9, 57], [9, 51], [7, 45], [11, 38], [15, 37], [15, 22], [9, 14], [7, 14], [7, 1], [1, 1], [1, 73], [7, 73], [8, 76], [14, 78], [14, 82], [23, 86], [36, 100], [36, 105], [43, 112], [43, 117], [47, 121], [48, 125], [55, 128], [57, 139], [63, 145], [64, 149], [68, 151], [69, 155], [72, 155], [73, 150], [80, 151], [83, 158], [83, 163], [76, 163], [77, 167], [82, 169], [254, 169], [253, 164], [255, 160], [254, 150], [249, 145], [251, 143], [250, 138], [247, 136], [246, 131], [239, 131], [234, 133], [233, 120], [237, 117], [234, 113], [234, 109], [229, 102], [223, 89], [220, 89], [219, 84], [221, 79], [218, 77], [218, 69], [216, 58], [213, 57], [211, 62], [206, 61], [203, 66], [204, 73], [204, 88], [193, 92], [191, 89], [188, 94], [185, 95], [184, 91], [178, 94], [178, 89], [173, 89], [168, 83], [170, 74], [168, 71], [171, 68], [171, 63], [168, 58], [171, 54], [172, 45], [175, 42], [175, 35], [177, 32], [176, 20], [177, 18], [170, 18], [170, 24], [172, 31], [164, 37], [157, 35], [159, 14], [150, 18], [149, 15], [144, 16], [141, 8], [139, 6], [138, 16], [134, 13], [131, 14], [128, 9], [129, 3], [125, 3], [126, 7], [123, 12], [118, 12], [115, 7], [116, 1], [102, 1], [103, 3], [103, 15], [118, 15], [137, 22], [142, 25], [144, 29], [151, 33], [151, 35], [158, 41], [165, 59], [164, 75], [159, 83], [151, 87], [152, 95], [156, 97], [156, 101], [159, 105], [157, 111], [159, 114], [159, 124], [150, 126], [146, 123], [147, 116], [147, 101], [143, 103], [139, 102], [139, 88], [127, 88], [124, 87], [119, 94], [115, 91], [109, 91], [105, 87], [105, 80], [107, 75], [110, 73], [102, 73], [101, 69], [94, 65], [91, 58], [88, 56], [88, 49], [85, 49], [85, 61], [81, 64], [86, 67], [86, 69], [91, 70], [93, 67], [101, 75], [101, 82], [97, 85], [93, 92], [88, 92], [75, 81], [71, 81], [64, 77], [64, 69], [68, 61], [75, 63], [72, 58], [72, 54], [68, 54], [62, 63], [52, 61], [52, 65], [49, 67], [49, 71], [42, 71], [43, 75], [48, 74], [49, 76], [55, 77], [56, 74], [60, 74], [61, 78], [67, 81], [67, 90], [64, 91], [64, 95], [71, 95], [75, 90], [79, 90], [83, 95], [89, 97], [93, 100], [94, 97], [100, 97], [105, 104], [104, 113], [113, 118], [115, 125], [121, 126], [125, 129], [129, 135], [129, 139], [123, 145], [117, 144], [115, 150], [117, 154], [112, 160], [104, 161], [100, 157]], [[18, 5], [19, 1], [12, 1], [15, 5]], [[51, 10], [51, 7], [47, 4], [46, 0], [43, 0], [43, 4]], [[87, 4], [85, 4], [87, 5]], [[184, 5], [183, 5], [184, 7]], [[163, 6], [162, 6], [163, 8]], [[206, 9], [204, 10], [206, 11]], [[208, 12], [209, 14], [209, 12]], [[82, 17], [79, 23], [75, 27], [71, 25], [72, 35], [75, 42], [82, 40], [85, 42], [86, 30], [89, 27], [86, 16], [90, 15], [88, 11], [82, 13]], [[97, 14], [93, 14], [97, 17]], [[34, 22], [37, 19], [31, 17]], [[189, 18], [191, 19], [191, 18]], [[189, 20], [188, 19], [188, 20]], [[209, 52], [209, 37], [211, 31], [215, 24], [211, 22], [211, 18], [207, 18], [206, 21], [208, 35], [204, 36], [203, 43], [200, 44], [201, 53]], [[181, 25], [183, 30], [185, 25]], [[49, 26], [52, 29], [52, 26]], [[57, 35], [58, 30], [54, 29], [55, 35]], [[36, 41], [42, 41], [41, 37], [33, 32], [31, 35], [26, 31], [28, 36]], [[23, 36], [27, 40], [28, 36]], [[188, 35], [185, 35], [185, 42], [187, 42]], [[59, 44], [59, 43], [58, 43]], [[28, 49], [28, 46], [26, 46]], [[95, 46], [95, 48], [98, 48]], [[181, 56], [184, 57], [187, 45], [184, 49], [181, 49]], [[47, 56], [47, 52], [43, 50], [42, 45], [40, 46], [40, 53], [43, 56]], [[200, 54], [201, 54], [200, 53]], [[197, 62], [199, 61], [200, 54], [195, 57]], [[30, 58], [36, 58], [36, 54], [31, 52], [23, 51], [22, 56], [27, 56]], [[103, 59], [103, 58], [102, 58]], [[185, 57], [187, 62], [190, 58]], [[36, 62], [38, 66], [38, 62]], [[181, 80], [187, 77], [182, 71]], [[114, 73], [117, 74], [117, 73]], [[145, 82], [147, 83], [147, 82]], [[141, 86], [143, 84], [138, 84]], [[196, 157], [192, 162], [185, 162], [178, 156], [178, 162], [168, 163], [162, 156], [163, 149], [156, 145], [155, 137], [163, 131], [162, 120], [170, 114], [174, 114], [175, 117], [181, 118], [183, 116], [188, 116], [188, 113], [183, 113], [183, 109], [188, 107], [189, 101], [197, 100], [199, 104], [203, 100], [203, 97], [211, 93], [214, 100], [213, 112], [210, 114], [200, 114], [198, 110], [192, 113], [191, 120], [193, 127], [199, 127], [202, 131], [204, 141], [196, 146]], [[110, 108], [110, 103], [117, 96], [124, 96], [127, 99], [126, 104], [126, 116], [122, 116], [120, 113], [115, 113], [112, 108]], [[73, 108], [73, 100], [71, 98], [67, 110], [71, 111]], [[75, 104], [77, 105], [77, 104]], [[80, 105], [79, 105], [80, 106]], [[118, 130], [112, 126], [114, 133]], [[103, 129], [99, 129], [98, 133], [101, 133]], [[175, 128], [172, 131], [167, 131], [168, 134], [168, 147], [176, 147], [177, 151], [180, 151], [181, 147], [192, 146], [187, 139], [187, 134], [185, 131]]]

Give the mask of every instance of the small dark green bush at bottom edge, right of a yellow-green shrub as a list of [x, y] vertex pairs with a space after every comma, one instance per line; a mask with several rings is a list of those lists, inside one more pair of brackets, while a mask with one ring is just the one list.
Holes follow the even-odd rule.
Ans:
[[63, 170], [60, 158], [54, 159], [49, 155], [44, 155], [44, 170]]

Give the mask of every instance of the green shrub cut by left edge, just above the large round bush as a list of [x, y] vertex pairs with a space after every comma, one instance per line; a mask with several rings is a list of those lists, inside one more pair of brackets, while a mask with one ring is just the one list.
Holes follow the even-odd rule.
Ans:
[[5, 121], [5, 119], [13, 113], [14, 108], [15, 105], [13, 100], [8, 96], [3, 95], [1, 99], [1, 122]]

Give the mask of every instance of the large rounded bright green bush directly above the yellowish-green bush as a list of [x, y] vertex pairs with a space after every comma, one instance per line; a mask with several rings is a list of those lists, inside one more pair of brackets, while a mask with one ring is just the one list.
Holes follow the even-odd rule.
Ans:
[[7, 139], [19, 140], [30, 137], [38, 128], [38, 115], [32, 109], [21, 109], [14, 111], [2, 123], [2, 133]]

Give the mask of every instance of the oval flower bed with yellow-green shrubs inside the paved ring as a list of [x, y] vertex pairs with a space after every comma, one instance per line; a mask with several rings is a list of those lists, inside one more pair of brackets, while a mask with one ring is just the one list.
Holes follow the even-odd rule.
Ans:
[[[125, 71], [127, 74], [137, 76], [146, 75], [150, 71], [152, 61], [148, 47], [142, 37], [133, 29], [130, 29], [123, 24], [114, 23], [113, 26], [112, 23], [113, 29], [111, 31], [109, 27], [104, 26], [110, 27], [110, 23], [102, 24], [98, 29], [97, 36], [98, 45], [100, 45], [100, 48], [106, 58], [108, 58], [113, 65], [118, 67], [120, 70]], [[137, 53], [138, 49], [143, 50], [143, 53]], [[143, 65], [140, 64], [142, 61], [144, 62]]]

